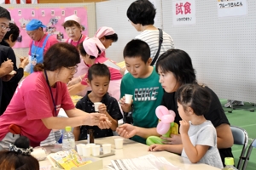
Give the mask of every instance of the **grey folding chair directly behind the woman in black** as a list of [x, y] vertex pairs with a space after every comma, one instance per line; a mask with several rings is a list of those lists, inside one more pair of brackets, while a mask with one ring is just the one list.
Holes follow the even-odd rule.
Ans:
[[230, 128], [233, 134], [234, 144], [243, 145], [241, 155], [236, 166], [236, 168], [239, 169], [241, 167], [242, 161], [245, 160], [245, 153], [248, 144], [248, 134], [247, 131], [241, 127], [230, 126]]

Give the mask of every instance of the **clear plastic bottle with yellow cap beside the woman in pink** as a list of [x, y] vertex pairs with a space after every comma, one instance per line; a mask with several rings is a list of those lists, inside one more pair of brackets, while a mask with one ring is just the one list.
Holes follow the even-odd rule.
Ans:
[[73, 133], [71, 132], [71, 127], [65, 127], [66, 133], [62, 137], [62, 150], [74, 150], [75, 149], [75, 139]]

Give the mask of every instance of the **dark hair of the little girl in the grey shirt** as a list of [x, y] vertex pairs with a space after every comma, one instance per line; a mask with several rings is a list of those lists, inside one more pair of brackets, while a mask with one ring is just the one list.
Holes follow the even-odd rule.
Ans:
[[184, 111], [191, 107], [197, 116], [204, 115], [210, 108], [211, 94], [207, 88], [197, 83], [184, 84], [177, 89], [175, 97], [177, 102], [183, 105]]

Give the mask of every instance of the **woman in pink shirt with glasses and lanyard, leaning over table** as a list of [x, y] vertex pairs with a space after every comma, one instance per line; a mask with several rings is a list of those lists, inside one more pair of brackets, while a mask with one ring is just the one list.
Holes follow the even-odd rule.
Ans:
[[[49, 48], [44, 63], [35, 65], [35, 72], [20, 82], [9, 106], [0, 116], [0, 147], [8, 148], [9, 143], [20, 135], [30, 139], [32, 146], [38, 146], [51, 129], [66, 126], [111, 126], [106, 116], [84, 114], [73, 105], [67, 82], [73, 78], [79, 62], [79, 51], [73, 45], [60, 42]], [[68, 118], [57, 117], [60, 108], [66, 111]]]

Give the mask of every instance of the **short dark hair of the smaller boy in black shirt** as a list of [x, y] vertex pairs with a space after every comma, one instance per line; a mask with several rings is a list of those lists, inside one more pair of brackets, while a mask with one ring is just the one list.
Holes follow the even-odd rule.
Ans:
[[108, 77], [110, 80], [110, 72], [107, 65], [97, 63], [91, 65], [88, 71], [88, 80], [92, 81], [92, 77]]

